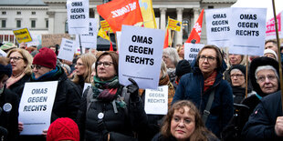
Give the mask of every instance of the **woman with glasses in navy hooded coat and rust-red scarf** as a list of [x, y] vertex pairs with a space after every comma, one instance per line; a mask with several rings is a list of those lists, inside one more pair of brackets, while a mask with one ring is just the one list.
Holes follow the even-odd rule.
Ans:
[[203, 116], [204, 125], [220, 137], [220, 132], [233, 116], [232, 88], [223, 80], [226, 65], [220, 49], [215, 45], [204, 45], [192, 62], [192, 68], [192, 73], [181, 77], [173, 103], [183, 99], [194, 102]]

